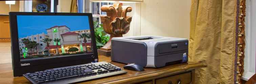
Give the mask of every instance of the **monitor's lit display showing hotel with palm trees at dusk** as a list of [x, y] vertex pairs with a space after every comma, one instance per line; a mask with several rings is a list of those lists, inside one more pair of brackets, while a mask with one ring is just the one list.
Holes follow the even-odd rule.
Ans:
[[17, 25], [20, 61], [93, 53], [88, 16], [17, 15]]

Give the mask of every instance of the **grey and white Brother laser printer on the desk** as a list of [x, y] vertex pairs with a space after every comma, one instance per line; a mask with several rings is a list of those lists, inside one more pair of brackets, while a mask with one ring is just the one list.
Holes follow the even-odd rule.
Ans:
[[131, 36], [111, 39], [111, 60], [159, 68], [188, 61], [188, 40], [161, 36]]

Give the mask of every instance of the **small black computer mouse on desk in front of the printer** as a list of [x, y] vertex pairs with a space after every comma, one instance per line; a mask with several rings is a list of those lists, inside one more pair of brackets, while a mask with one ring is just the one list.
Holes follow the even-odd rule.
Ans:
[[144, 71], [144, 68], [137, 64], [128, 64], [124, 66], [124, 69], [126, 70], [132, 70], [132, 71]]

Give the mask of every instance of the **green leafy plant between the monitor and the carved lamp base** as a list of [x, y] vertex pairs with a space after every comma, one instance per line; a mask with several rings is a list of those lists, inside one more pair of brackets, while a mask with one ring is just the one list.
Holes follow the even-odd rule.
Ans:
[[103, 25], [99, 24], [98, 22], [93, 22], [93, 25], [96, 38], [96, 48], [99, 49], [106, 45], [110, 37], [106, 32], [104, 32]]

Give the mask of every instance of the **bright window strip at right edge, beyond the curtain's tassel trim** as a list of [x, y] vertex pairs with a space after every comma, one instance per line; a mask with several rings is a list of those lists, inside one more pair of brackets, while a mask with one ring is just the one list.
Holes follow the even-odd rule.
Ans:
[[246, 49], [244, 52], [244, 74], [242, 79], [247, 81], [255, 74], [256, 71], [256, 24], [254, 24], [256, 23], [256, 1], [246, 0], [246, 7]]

